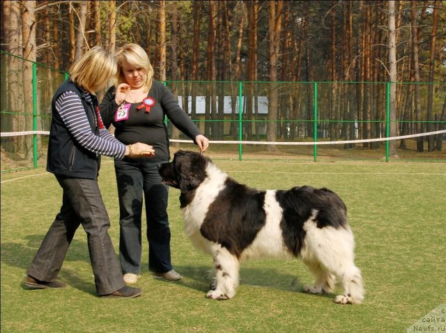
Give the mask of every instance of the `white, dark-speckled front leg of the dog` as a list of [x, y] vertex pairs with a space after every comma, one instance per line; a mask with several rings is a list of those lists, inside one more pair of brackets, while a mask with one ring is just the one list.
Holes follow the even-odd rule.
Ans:
[[206, 297], [213, 300], [228, 300], [236, 295], [238, 286], [238, 270], [240, 264], [238, 258], [227, 249], [216, 245], [213, 249], [216, 284], [215, 290], [208, 291]]

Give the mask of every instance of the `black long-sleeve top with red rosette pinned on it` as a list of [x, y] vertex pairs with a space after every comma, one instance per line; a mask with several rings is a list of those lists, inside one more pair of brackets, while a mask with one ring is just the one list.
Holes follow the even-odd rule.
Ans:
[[[150, 111], [147, 112], [146, 107], [138, 109], [141, 102], [132, 103], [128, 118], [121, 121], [116, 121], [116, 111], [120, 105], [114, 101], [114, 92], [114, 86], [109, 88], [99, 107], [105, 127], [108, 128], [113, 124], [116, 128], [114, 135], [123, 144], [142, 142], [153, 146], [155, 156], [150, 159], [153, 163], [170, 160], [169, 135], [164, 123], [164, 116], [167, 116], [178, 130], [192, 140], [201, 134], [197, 125], [180, 108], [178, 100], [169, 88], [160, 82], [153, 81], [151, 90], [148, 92], [147, 97], [155, 101], [155, 104], [150, 107]], [[124, 101], [124, 103], [127, 102]]]

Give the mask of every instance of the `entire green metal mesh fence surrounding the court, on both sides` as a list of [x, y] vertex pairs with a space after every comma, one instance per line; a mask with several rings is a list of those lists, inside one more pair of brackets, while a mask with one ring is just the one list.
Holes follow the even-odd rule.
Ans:
[[[29, 64], [31, 82], [24, 81], [23, 75]], [[1, 52], [2, 173], [45, 166], [52, 94], [66, 77], [66, 72]], [[308, 162], [446, 160], [443, 133], [407, 137], [445, 130], [444, 83], [395, 83], [394, 117], [390, 115], [388, 82], [165, 84], [211, 140], [207, 155], [213, 158]], [[197, 149], [169, 120], [166, 123], [173, 149]], [[392, 126], [396, 136], [405, 137], [393, 141], [397, 157], [391, 155], [390, 141], [351, 142], [390, 137]], [[337, 141], [347, 142], [336, 144]]]

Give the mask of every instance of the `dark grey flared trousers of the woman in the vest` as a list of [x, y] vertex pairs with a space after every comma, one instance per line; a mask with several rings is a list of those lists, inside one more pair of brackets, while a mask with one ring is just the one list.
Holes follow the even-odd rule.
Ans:
[[91, 267], [98, 295], [125, 286], [110, 239], [110, 221], [97, 180], [56, 176], [63, 189], [62, 207], [31, 263], [28, 274], [54, 281], [80, 224], [87, 235]]

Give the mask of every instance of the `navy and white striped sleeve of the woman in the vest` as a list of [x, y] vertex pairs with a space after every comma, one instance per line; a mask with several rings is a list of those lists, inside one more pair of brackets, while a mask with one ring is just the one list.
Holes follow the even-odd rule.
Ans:
[[[90, 95], [87, 95], [87, 100], [91, 102]], [[106, 128], [99, 130], [99, 136], [91, 131], [82, 101], [75, 92], [62, 93], [56, 100], [56, 111], [59, 112], [68, 131], [82, 147], [93, 153], [115, 157], [118, 160], [123, 159], [125, 144], [115, 139]]]

